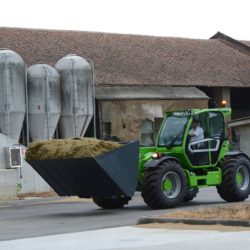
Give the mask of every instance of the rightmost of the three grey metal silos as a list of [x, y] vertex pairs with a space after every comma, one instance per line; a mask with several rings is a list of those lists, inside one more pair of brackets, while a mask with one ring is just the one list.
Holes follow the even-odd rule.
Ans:
[[60, 136], [84, 136], [94, 110], [92, 67], [82, 57], [67, 55], [56, 63], [55, 68], [61, 82]]

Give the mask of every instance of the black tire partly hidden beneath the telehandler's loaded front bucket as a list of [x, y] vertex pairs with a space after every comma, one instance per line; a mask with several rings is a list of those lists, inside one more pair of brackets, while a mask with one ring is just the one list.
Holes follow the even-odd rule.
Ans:
[[93, 197], [94, 203], [103, 209], [123, 208], [131, 200], [129, 196], [121, 197]]

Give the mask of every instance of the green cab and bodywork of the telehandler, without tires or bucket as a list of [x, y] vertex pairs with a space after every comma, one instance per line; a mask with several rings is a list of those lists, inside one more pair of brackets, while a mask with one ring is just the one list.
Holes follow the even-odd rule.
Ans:
[[[152, 157], [153, 153], [158, 153], [159, 155], [162, 155], [162, 157], [171, 156], [179, 161], [187, 176], [187, 183], [189, 188], [202, 188], [207, 186], [220, 185], [222, 182], [222, 174], [219, 167], [219, 162], [229, 151], [225, 118], [230, 115], [231, 109], [229, 108], [195, 109], [167, 112], [158, 133], [156, 146], [140, 147], [139, 184], [142, 178], [143, 171], [145, 169], [145, 164], [149, 161], [159, 161], [161, 159], [160, 157], [158, 159], [154, 159]], [[207, 152], [199, 153], [200, 155], [202, 155], [202, 157], [205, 156], [206, 158], [204, 161], [205, 163], [203, 164], [195, 164], [194, 161], [192, 163], [192, 160], [190, 159], [192, 157], [192, 154], [188, 153], [188, 133], [191, 129], [193, 119], [197, 119], [197, 117], [201, 118], [203, 121], [203, 128], [205, 128], [204, 134], [206, 134], [205, 138], [210, 138], [210, 141], [206, 142]], [[179, 134], [176, 132], [177, 136], [176, 138], [172, 139], [172, 145], [163, 145], [163, 137], [165, 136], [165, 134], [169, 134], [169, 136], [171, 136], [172, 133], [172, 131], [165, 132], [164, 130], [165, 128], [167, 128], [167, 123], [169, 123], [169, 127], [171, 127], [171, 119], [177, 125], [183, 123], [183, 127], [179, 129]], [[179, 120], [181, 122], [179, 122]], [[218, 132], [216, 136], [213, 136], [213, 129], [217, 130]], [[172, 130], [174, 132], [175, 127], [173, 127]], [[218, 143], [219, 147], [217, 150], [213, 151], [213, 143]], [[237, 181], [241, 181], [241, 176], [237, 176]], [[166, 190], [170, 189], [171, 183], [164, 183], [163, 188]], [[138, 186], [138, 189], [140, 190], [140, 185]]]

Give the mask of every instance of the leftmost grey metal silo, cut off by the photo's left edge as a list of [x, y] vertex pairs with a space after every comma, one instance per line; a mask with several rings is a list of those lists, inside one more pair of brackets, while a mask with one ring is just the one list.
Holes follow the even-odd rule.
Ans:
[[14, 51], [0, 49], [0, 129], [18, 141], [25, 116], [25, 64]]

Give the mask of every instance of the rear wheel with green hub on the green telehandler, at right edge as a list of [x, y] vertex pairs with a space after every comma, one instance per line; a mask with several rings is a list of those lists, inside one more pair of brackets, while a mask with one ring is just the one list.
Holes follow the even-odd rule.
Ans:
[[[221, 163], [222, 184], [217, 191], [228, 202], [244, 201], [250, 193], [250, 162], [244, 155], [231, 156]], [[240, 180], [239, 180], [240, 179]]]

